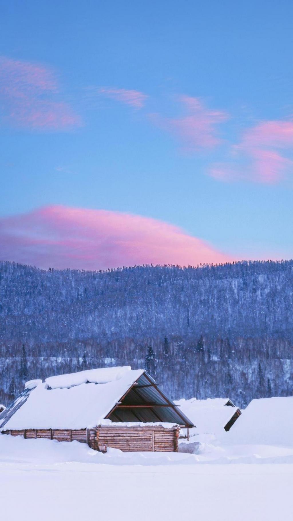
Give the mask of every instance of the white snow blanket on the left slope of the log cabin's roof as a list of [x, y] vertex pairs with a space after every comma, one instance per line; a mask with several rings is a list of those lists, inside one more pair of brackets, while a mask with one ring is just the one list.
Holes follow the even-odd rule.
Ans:
[[[66, 382], [66, 378], [56, 380], [56, 388], [47, 389], [46, 383], [37, 385], [30, 393], [27, 401], [7, 421], [3, 429], [84, 429], [99, 425], [101, 420], [111, 411], [120, 398], [144, 372], [143, 369], [119, 371], [106, 370], [105, 376], [99, 376], [104, 369], [94, 369], [90, 378], [105, 380], [107, 383], [75, 383], [77, 379], [68, 379], [73, 387], [57, 387]], [[101, 371], [101, 372], [100, 372]], [[91, 371], [82, 371], [82, 373]], [[79, 373], [77, 373], [79, 375]], [[72, 376], [72, 375], [65, 375]], [[81, 380], [79, 380], [81, 382]], [[54, 383], [53, 383], [54, 385]]]

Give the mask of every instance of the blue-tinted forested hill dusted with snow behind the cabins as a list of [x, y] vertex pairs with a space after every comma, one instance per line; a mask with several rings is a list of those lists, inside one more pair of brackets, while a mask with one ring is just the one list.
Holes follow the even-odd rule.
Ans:
[[0, 401], [30, 377], [114, 364], [147, 366], [173, 398], [292, 394], [292, 304], [293, 261], [103, 272], [2, 262]]

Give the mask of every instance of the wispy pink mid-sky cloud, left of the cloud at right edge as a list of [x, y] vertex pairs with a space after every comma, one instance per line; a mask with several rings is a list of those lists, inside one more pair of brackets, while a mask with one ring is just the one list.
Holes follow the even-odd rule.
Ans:
[[216, 125], [226, 121], [228, 114], [206, 108], [196, 97], [180, 96], [179, 101], [184, 107], [185, 115], [179, 118], [167, 118], [160, 114], [152, 114], [151, 120], [179, 139], [189, 152], [219, 145], [222, 141]]

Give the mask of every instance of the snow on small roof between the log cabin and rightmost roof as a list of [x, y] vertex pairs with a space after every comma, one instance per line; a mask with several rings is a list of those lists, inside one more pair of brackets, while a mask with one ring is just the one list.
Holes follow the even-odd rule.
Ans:
[[[237, 411], [237, 407], [225, 405], [227, 398], [208, 398], [207, 400], [177, 400], [174, 403], [180, 405], [180, 410], [193, 421], [195, 428], [189, 429], [190, 440], [196, 436], [197, 442], [206, 442], [222, 437], [224, 427]], [[239, 420], [239, 418], [236, 420]], [[184, 434], [186, 431], [182, 430]]]

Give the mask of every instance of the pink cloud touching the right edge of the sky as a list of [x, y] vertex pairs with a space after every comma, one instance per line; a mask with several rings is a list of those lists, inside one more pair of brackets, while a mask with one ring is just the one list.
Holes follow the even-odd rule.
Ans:
[[292, 122], [263, 121], [246, 130], [240, 143], [231, 148], [231, 160], [212, 165], [209, 175], [222, 181], [276, 184], [292, 168], [292, 160], [282, 152], [292, 148]]

